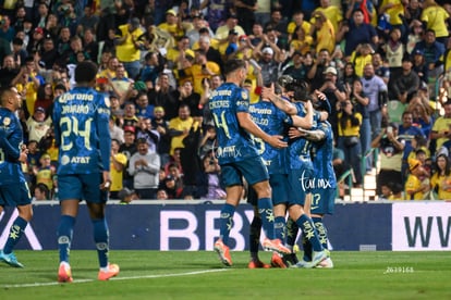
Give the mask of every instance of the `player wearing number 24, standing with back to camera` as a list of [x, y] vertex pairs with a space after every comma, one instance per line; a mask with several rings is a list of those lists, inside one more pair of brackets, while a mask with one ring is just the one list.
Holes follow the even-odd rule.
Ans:
[[108, 98], [94, 89], [96, 74], [97, 66], [93, 62], [77, 64], [76, 87], [60, 96], [53, 108], [54, 138], [60, 161], [57, 171], [61, 204], [58, 227], [60, 283], [72, 282], [69, 252], [81, 200], [86, 200], [93, 222], [100, 265], [98, 279], [108, 280], [119, 274], [119, 266], [108, 262], [109, 233], [105, 217], [108, 188], [111, 185], [110, 103]]

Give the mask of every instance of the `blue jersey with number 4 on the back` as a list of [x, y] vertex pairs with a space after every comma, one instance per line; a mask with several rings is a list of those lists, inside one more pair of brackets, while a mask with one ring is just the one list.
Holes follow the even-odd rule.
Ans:
[[235, 84], [224, 83], [212, 91], [209, 108], [217, 132], [219, 164], [258, 157], [251, 134], [240, 127], [236, 116], [239, 112], [248, 113], [247, 90]]

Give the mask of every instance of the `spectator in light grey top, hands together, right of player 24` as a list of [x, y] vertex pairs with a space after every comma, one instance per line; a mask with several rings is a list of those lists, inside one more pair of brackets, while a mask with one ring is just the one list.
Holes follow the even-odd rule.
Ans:
[[155, 199], [158, 188], [160, 158], [149, 151], [147, 140], [137, 140], [137, 152], [130, 158], [129, 174], [133, 176], [133, 188], [139, 199]]

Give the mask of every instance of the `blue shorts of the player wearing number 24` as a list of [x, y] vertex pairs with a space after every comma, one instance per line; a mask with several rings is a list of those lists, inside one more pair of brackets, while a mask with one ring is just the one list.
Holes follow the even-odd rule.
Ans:
[[58, 175], [58, 198], [86, 200], [90, 203], [106, 203], [108, 192], [100, 190], [101, 173]]

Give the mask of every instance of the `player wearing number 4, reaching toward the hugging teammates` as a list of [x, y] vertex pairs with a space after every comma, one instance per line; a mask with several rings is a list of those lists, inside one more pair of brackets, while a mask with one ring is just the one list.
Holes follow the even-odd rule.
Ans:
[[217, 155], [222, 170], [227, 199], [221, 210], [220, 237], [215, 242], [215, 251], [221, 262], [232, 265], [229, 249], [229, 235], [233, 214], [243, 192], [243, 179], [252, 186], [258, 198], [258, 211], [261, 215], [266, 239], [263, 246], [267, 250], [289, 253], [282, 242], [273, 239], [273, 214], [271, 188], [266, 166], [251, 138], [251, 134], [275, 148], [284, 148], [287, 142], [281, 136], [270, 136], [263, 132], [251, 118], [249, 97], [242, 84], [247, 75], [246, 63], [230, 60], [224, 66], [227, 80], [211, 92], [209, 108], [215, 121], [218, 137]]

